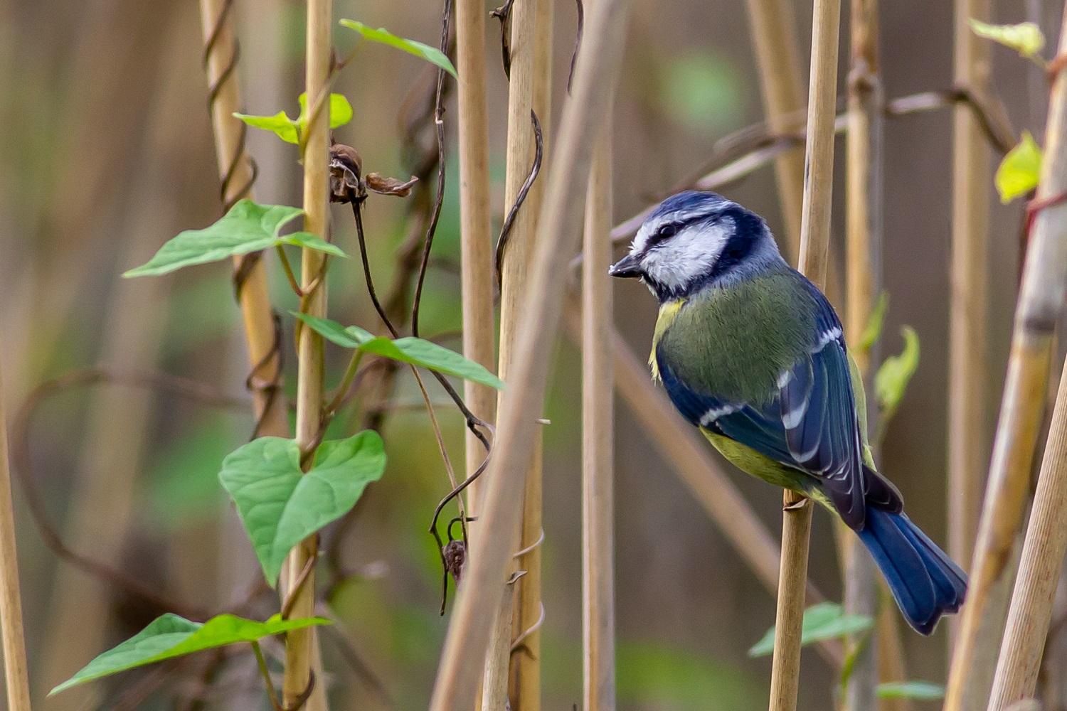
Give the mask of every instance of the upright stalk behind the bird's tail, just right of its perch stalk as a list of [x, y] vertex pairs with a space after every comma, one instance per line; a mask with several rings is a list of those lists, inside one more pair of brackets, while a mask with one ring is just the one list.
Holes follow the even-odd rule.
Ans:
[[[878, 76], [878, 2], [853, 0], [850, 13], [851, 74], [848, 82], [848, 133], [845, 151], [845, 338], [858, 343], [871, 318], [881, 281], [881, 83]], [[872, 350], [875, 352], [872, 353]], [[853, 357], [873, 392], [872, 360], [877, 362], [877, 344], [854, 349]], [[873, 431], [878, 408], [874, 398], [866, 403], [867, 430]], [[876, 453], [877, 456], [877, 453]], [[878, 581], [874, 561], [858, 537], [842, 522], [841, 553], [844, 565], [844, 607], [854, 615], [878, 614]], [[865, 711], [879, 706], [878, 651], [880, 634], [874, 640], [849, 637], [849, 653], [858, 655], [848, 676], [845, 708]]]

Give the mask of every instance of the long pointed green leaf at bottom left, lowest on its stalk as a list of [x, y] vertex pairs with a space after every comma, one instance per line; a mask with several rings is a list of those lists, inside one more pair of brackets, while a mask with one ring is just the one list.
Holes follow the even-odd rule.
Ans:
[[274, 615], [266, 623], [219, 615], [206, 623], [192, 623], [185, 617], [165, 614], [157, 617], [148, 627], [123, 642], [117, 647], [103, 652], [68, 680], [49, 692], [49, 696], [93, 679], [107, 677], [118, 672], [144, 666], [164, 659], [173, 659], [194, 651], [224, 647], [239, 642], [255, 642], [265, 636], [299, 630], [313, 625], [329, 625], [329, 619], [308, 617], [306, 619], [282, 619]]

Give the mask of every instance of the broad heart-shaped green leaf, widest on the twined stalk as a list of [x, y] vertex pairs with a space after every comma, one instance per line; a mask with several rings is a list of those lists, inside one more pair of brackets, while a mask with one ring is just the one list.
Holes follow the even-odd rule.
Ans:
[[219, 481], [273, 586], [292, 547], [348, 513], [384, 471], [382, 438], [368, 430], [322, 442], [306, 474], [296, 440], [253, 439], [223, 459]]

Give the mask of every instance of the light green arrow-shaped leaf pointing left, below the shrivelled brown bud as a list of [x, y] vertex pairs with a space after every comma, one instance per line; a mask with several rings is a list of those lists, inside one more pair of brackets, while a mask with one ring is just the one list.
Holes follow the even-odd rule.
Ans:
[[348, 256], [339, 247], [310, 232], [278, 235], [286, 223], [301, 214], [303, 210], [300, 208], [240, 200], [213, 225], [179, 232], [160, 247], [148, 263], [131, 269], [123, 276], [168, 274], [182, 266], [206, 264], [280, 244], [294, 244], [335, 257]]

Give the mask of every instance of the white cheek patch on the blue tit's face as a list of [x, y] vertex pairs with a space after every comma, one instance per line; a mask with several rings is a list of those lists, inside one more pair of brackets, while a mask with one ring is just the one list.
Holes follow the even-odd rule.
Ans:
[[[649, 249], [641, 260], [641, 269], [649, 278], [669, 289], [682, 288], [715, 266], [732, 233], [730, 220], [687, 227], [664, 244]], [[637, 246], [638, 240], [635, 240], [635, 249]]]

